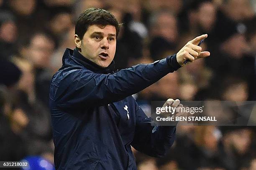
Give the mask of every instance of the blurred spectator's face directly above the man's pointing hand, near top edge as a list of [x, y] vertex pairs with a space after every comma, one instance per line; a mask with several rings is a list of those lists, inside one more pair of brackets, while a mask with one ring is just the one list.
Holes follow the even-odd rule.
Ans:
[[212, 2], [202, 3], [198, 9], [199, 25], [205, 30], [210, 31], [216, 20], [216, 8]]

